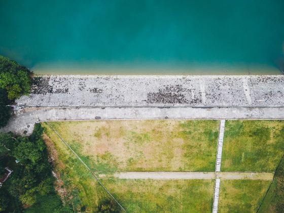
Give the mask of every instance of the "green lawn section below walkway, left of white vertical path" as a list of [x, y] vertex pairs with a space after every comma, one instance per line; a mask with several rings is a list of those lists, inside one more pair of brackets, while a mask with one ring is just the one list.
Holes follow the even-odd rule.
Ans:
[[102, 180], [127, 212], [211, 212], [214, 180]]

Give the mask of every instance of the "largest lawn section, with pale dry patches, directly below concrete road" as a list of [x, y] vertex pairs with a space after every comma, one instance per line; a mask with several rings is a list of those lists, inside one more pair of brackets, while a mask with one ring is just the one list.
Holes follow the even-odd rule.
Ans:
[[50, 124], [95, 171], [215, 170], [218, 120], [63, 121]]

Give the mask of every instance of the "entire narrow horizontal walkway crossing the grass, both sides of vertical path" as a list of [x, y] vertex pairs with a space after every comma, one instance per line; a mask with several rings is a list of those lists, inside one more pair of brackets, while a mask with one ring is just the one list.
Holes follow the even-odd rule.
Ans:
[[[92, 171], [99, 179], [215, 179], [215, 172], [202, 171]], [[216, 172], [222, 180], [272, 180], [273, 172]]]

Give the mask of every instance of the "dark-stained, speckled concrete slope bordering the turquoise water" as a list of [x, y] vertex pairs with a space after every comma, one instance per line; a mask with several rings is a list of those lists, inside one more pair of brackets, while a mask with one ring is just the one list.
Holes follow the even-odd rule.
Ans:
[[261, 107], [284, 105], [284, 75], [36, 76], [17, 105]]

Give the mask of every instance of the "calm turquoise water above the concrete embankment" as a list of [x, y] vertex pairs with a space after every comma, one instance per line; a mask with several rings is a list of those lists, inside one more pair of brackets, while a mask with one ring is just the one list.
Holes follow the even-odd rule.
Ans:
[[283, 0], [1, 1], [0, 54], [35, 73], [280, 74]]

